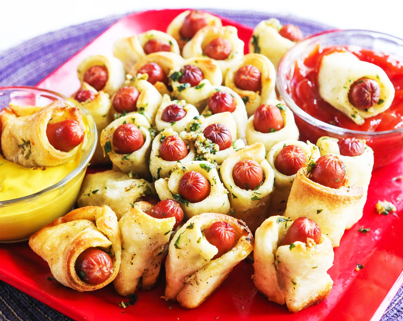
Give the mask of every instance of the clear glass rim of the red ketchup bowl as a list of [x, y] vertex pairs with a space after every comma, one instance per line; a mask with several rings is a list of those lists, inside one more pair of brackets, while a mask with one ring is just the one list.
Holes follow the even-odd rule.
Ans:
[[[318, 127], [320, 129], [332, 132], [334, 134], [338, 135], [346, 135], [346, 136], [352, 136], [352, 137], [361, 137], [361, 138], [367, 138], [371, 139], [374, 137], [385, 137], [385, 136], [390, 136], [391, 134], [402, 134], [403, 133], [403, 127], [401, 128], [396, 128], [396, 129], [391, 129], [391, 130], [384, 130], [384, 131], [379, 131], [379, 132], [367, 132], [367, 131], [361, 131], [361, 130], [351, 130], [347, 128], [342, 128], [338, 126], [334, 126], [332, 124], [328, 124], [323, 122], [322, 120], [318, 120], [306, 111], [302, 110], [293, 100], [293, 98], [290, 96], [290, 94], [287, 92], [285, 89], [285, 76], [281, 77], [282, 75], [286, 74], [286, 71], [283, 70], [285, 69], [285, 65], [288, 62], [290, 56], [294, 54], [295, 51], [299, 50], [299, 48], [303, 48], [304, 46], [307, 46], [308, 44], [311, 44], [315, 42], [315, 40], [320, 40], [328, 34], [348, 34], [348, 33], [361, 33], [363, 35], [365, 34], [374, 34], [377, 35], [378, 38], [384, 38], [388, 40], [393, 40], [396, 44], [400, 43], [400, 46], [403, 46], [403, 39], [385, 34], [382, 32], [378, 31], [372, 31], [372, 30], [364, 30], [364, 29], [332, 29], [332, 30], [326, 30], [326, 31], [321, 31], [317, 34], [314, 34], [312, 36], [309, 36], [290, 48], [283, 58], [280, 60], [278, 63], [278, 68], [277, 68], [277, 74], [276, 74], [276, 87], [277, 90], [281, 96], [281, 98], [285, 101], [286, 105], [297, 115], [300, 117], [302, 120], [305, 122], [309, 123], [310, 125], [313, 125], [315, 127]], [[346, 45], [349, 46], [349, 45]], [[380, 51], [380, 50], [376, 50]], [[382, 51], [380, 51], [382, 52]], [[403, 61], [403, 57], [402, 57]]]

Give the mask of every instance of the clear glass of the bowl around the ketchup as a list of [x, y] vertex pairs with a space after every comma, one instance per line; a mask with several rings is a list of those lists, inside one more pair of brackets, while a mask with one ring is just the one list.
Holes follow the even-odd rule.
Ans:
[[367, 30], [331, 30], [311, 36], [291, 48], [280, 61], [277, 69], [276, 87], [283, 101], [294, 112], [300, 131], [300, 140], [316, 143], [320, 136], [336, 138], [357, 137], [365, 139], [374, 150], [374, 168], [394, 162], [403, 153], [403, 128], [367, 132], [349, 130], [322, 122], [303, 111], [291, 97], [291, 80], [295, 65], [303, 61], [317, 45], [359, 46], [383, 52], [403, 61], [403, 40], [387, 34]]

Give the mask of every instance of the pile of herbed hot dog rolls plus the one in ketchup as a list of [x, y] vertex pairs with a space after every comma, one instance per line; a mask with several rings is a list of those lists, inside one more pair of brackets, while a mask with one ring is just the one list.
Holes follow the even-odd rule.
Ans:
[[[30, 237], [54, 277], [78, 291], [113, 282], [127, 296], [153, 287], [166, 257], [164, 298], [194, 308], [253, 251], [253, 281], [269, 300], [297, 312], [326, 299], [333, 247], [363, 214], [374, 156], [357, 138], [298, 141], [274, 85], [302, 38], [262, 21], [243, 55], [235, 27], [188, 10], [166, 33], [119, 39], [114, 57], [82, 61], [74, 99], [100, 136], [91, 164], [113, 166], [88, 174], [78, 208]], [[359, 122], [390, 105], [383, 74], [364, 77], [368, 65], [334, 92], [326, 77], [344, 76], [330, 75], [342, 73], [333, 55], [319, 73], [324, 99], [344, 94], [334, 107]]]

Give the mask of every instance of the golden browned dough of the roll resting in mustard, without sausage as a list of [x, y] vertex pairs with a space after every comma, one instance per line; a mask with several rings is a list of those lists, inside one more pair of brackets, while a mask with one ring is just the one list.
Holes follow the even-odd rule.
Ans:
[[80, 109], [62, 101], [55, 101], [39, 110], [32, 106], [3, 109], [0, 124], [4, 157], [25, 167], [66, 163], [76, 155], [82, 144], [68, 152], [59, 151], [50, 145], [46, 127], [67, 119], [76, 120], [85, 130]]

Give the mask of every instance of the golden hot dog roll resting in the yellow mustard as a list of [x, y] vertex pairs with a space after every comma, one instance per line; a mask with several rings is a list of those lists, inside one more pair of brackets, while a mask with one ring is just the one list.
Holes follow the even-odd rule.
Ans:
[[85, 133], [79, 107], [63, 101], [42, 108], [7, 107], [0, 125], [4, 158], [25, 167], [68, 162], [79, 152]]

